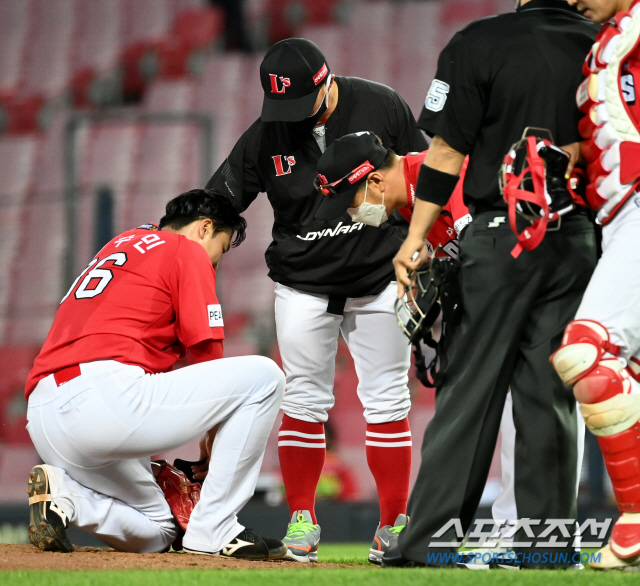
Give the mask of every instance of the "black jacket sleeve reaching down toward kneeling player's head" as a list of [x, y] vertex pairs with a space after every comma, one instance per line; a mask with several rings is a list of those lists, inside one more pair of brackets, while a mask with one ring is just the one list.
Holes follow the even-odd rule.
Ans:
[[258, 152], [252, 144], [256, 142], [255, 126], [251, 126], [240, 137], [206, 185], [207, 189], [215, 189], [229, 197], [241, 212], [251, 205], [258, 193], [264, 191], [252, 157], [252, 153]]

